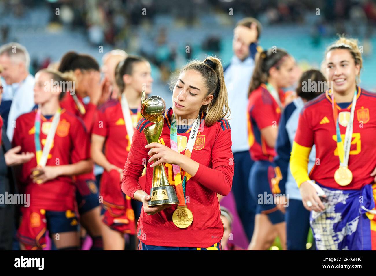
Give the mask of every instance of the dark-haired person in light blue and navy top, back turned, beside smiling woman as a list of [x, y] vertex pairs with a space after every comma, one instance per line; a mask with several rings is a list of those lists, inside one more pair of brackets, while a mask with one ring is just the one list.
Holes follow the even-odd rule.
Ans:
[[[317, 88], [311, 87], [311, 84], [314, 83], [317, 84], [314, 86]], [[298, 127], [299, 114], [307, 101], [324, 92], [320, 89], [323, 83], [326, 84], [326, 78], [320, 71], [314, 69], [305, 71], [300, 77], [296, 89], [298, 97], [285, 107], [279, 122], [275, 147], [277, 156], [274, 158], [274, 163], [282, 174], [278, 193], [285, 193], [289, 196], [285, 213], [288, 250], [305, 250], [309, 231], [309, 211], [305, 210], [303, 206], [299, 188], [289, 169], [291, 147]], [[308, 170], [312, 169], [316, 161], [315, 158], [316, 152], [313, 146], [309, 154]]]

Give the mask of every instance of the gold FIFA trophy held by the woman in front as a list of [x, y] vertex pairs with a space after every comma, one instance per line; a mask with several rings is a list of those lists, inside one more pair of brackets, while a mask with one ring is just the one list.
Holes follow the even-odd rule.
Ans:
[[[144, 128], [144, 133], [147, 142], [153, 143], [159, 140], [163, 130], [164, 117], [163, 113], [166, 110], [165, 101], [159, 96], [151, 96], [145, 98], [145, 91], [142, 92], [141, 97], [141, 115], [155, 123], [150, 127]], [[176, 192], [173, 186], [168, 182], [168, 177], [164, 169], [164, 163], [153, 167], [152, 188], [150, 189], [151, 199], [148, 206], [156, 206], [162, 204], [178, 204]]]

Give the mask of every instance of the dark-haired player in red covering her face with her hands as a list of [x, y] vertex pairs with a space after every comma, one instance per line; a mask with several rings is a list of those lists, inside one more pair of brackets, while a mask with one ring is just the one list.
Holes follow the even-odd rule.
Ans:
[[[99, 98], [109, 90], [109, 81], [106, 78], [100, 81], [99, 64], [93, 57], [86, 54], [66, 53], [60, 60], [58, 70], [71, 72], [76, 78], [75, 90], [64, 96], [60, 102], [61, 107], [81, 118], [88, 136], [91, 137], [97, 104]], [[86, 101], [87, 99], [89, 102]], [[92, 239], [91, 249], [100, 250], [103, 248], [101, 232], [103, 226], [100, 219], [99, 191], [94, 173], [75, 176], [75, 183], [80, 224]], [[81, 243], [83, 241], [82, 237]]]

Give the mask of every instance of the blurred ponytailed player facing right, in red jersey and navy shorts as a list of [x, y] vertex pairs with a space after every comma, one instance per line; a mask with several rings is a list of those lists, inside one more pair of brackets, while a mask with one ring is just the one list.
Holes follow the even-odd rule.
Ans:
[[[250, 153], [255, 163], [250, 173], [249, 187], [257, 202], [255, 231], [249, 250], [268, 249], [275, 234], [280, 238], [282, 248], [286, 243], [286, 224], [283, 207], [275, 202], [265, 204], [266, 195], [273, 195], [270, 188], [270, 169], [273, 170], [274, 146], [277, 140], [278, 124], [284, 104], [282, 88], [293, 84], [295, 60], [286, 51], [270, 48], [258, 53], [255, 70], [249, 88], [248, 135]], [[261, 195], [261, 204], [260, 201]], [[281, 211], [282, 210], [282, 211]]]

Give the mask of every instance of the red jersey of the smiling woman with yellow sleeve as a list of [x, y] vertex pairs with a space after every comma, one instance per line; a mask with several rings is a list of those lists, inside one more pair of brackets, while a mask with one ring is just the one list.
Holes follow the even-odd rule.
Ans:
[[[340, 161], [331, 97], [327, 93], [318, 96], [309, 101], [300, 113], [295, 142], [306, 147], [316, 146], [316, 162], [309, 177], [323, 186], [350, 190], [373, 183], [370, 173], [376, 166], [376, 94], [363, 89], [358, 91], [349, 155], [353, 180], [347, 186], [340, 186], [334, 181], [334, 172]], [[347, 108], [336, 104], [335, 108], [338, 109], [338, 122], [344, 141], [351, 104]]]

